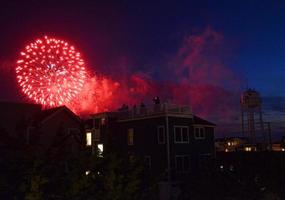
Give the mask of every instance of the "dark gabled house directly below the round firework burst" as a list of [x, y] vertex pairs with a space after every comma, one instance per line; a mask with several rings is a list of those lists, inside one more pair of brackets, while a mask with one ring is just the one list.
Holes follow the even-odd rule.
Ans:
[[83, 144], [81, 119], [66, 106], [42, 110], [27, 127], [27, 144], [32, 144], [34, 137], [43, 149], [65, 148], [76, 153]]

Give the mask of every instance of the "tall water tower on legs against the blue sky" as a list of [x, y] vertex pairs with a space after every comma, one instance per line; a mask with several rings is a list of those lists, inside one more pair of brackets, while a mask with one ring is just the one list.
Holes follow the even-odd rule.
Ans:
[[247, 89], [241, 95], [240, 104], [242, 133], [249, 137], [252, 144], [256, 144], [256, 131], [260, 130], [264, 134], [260, 94], [254, 89]]

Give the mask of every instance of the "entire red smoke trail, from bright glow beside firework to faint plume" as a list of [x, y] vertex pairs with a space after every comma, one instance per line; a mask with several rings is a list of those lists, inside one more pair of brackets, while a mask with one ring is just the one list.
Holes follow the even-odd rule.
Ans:
[[108, 74], [89, 78], [78, 104], [71, 108], [81, 114], [94, 113], [139, 104], [158, 95], [162, 100], [190, 105], [201, 116], [229, 119], [238, 108], [240, 82], [224, 64], [224, 46], [224, 37], [210, 28], [190, 35], [161, 69], [164, 81], [124, 66], [112, 79]]

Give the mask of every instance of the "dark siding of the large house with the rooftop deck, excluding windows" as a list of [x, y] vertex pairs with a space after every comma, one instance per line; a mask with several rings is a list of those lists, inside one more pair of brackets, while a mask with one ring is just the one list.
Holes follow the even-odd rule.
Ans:
[[[137, 155], [141, 159], [145, 156], [151, 157], [151, 172], [165, 178], [168, 169], [167, 150], [167, 124], [169, 131], [169, 161], [171, 177], [176, 177], [176, 156], [186, 155], [190, 159], [190, 171], [199, 168], [201, 156], [207, 155], [212, 158], [215, 155], [214, 126], [199, 125], [205, 130], [204, 139], [195, 139], [194, 120], [191, 116], [152, 116], [141, 119], [116, 120], [107, 118], [107, 124], [101, 126], [100, 143], [116, 146], [124, 155]], [[157, 137], [158, 126], [164, 126], [165, 143], [159, 144]], [[189, 142], [175, 143], [174, 127], [188, 127]], [[128, 129], [134, 129], [134, 144], [128, 145]]]

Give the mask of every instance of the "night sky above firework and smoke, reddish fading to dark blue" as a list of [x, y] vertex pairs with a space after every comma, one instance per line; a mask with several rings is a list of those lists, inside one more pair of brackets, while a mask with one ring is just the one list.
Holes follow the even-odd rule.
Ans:
[[126, 58], [159, 77], [185, 37], [211, 27], [225, 38], [229, 68], [264, 96], [285, 96], [285, 1], [60, 2], [1, 1], [1, 62], [49, 34], [75, 43], [103, 72]]

